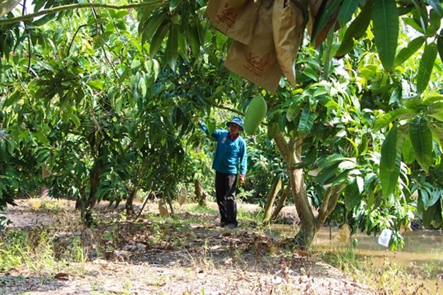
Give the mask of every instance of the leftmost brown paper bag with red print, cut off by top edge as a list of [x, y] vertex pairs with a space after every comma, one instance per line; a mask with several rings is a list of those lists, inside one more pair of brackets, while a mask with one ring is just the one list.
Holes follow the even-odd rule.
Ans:
[[229, 38], [249, 44], [261, 0], [209, 0], [206, 15]]

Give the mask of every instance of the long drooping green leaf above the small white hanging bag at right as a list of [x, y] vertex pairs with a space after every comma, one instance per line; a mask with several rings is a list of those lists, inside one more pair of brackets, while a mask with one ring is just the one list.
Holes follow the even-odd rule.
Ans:
[[384, 197], [395, 191], [400, 175], [400, 159], [401, 154], [397, 150], [397, 125], [394, 125], [382, 144], [379, 179]]

